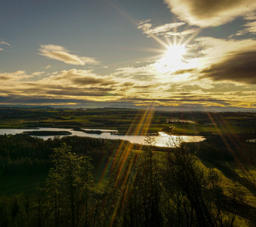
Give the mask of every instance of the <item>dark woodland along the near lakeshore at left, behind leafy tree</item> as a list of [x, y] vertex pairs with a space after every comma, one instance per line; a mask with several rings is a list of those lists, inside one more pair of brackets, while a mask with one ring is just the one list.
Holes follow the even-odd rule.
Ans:
[[[50, 155], [62, 142], [71, 145], [79, 155], [91, 156], [94, 166], [102, 168], [113, 150], [118, 149], [120, 141], [78, 136], [43, 140], [26, 134], [0, 135], [0, 172], [2, 175], [48, 173], [52, 166]], [[125, 144], [130, 143], [126, 141]], [[139, 147], [133, 145], [134, 149]]]

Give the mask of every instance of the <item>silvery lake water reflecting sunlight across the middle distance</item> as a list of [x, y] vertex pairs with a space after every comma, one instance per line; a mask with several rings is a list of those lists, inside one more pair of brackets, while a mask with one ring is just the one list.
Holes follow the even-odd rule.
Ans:
[[[5, 133], [15, 135], [16, 133], [22, 133], [23, 131], [35, 131], [36, 129], [0, 129], [0, 135], [4, 135]], [[70, 128], [39, 128], [37, 130], [46, 130], [46, 131], [69, 131], [72, 133], [72, 135], [78, 135], [78, 136], [87, 136], [92, 138], [105, 138], [105, 139], [121, 139], [121, 140], [128, 140], [131, 143], [144, 143], [145, 136], [143, 135], [111, 135], [110, 131], [116, 131], [116, 130], [104, 130], [104, 129], [85, 129], [85, 130], [100, 130], [103, 133], [101, 134], [89, 134], [79, 131], [73, 131]], [[39, 138], [43, 138], [44, 140], [47, 140], [48, 138], [54, 138], [54, 136], [37, 136]], [[63, 136], [60, 136], [63, 137]], [[167, 135], [166, 133], [159, 132], [159, 136], [154, 136], [156, 140], [156, 146], [165, 147], [166, 142], [172, 141], [172, 139], [175, 141], [179, 137], [175, 135]], [[182, 140], [184, 142], [199, 142], [202, 140], [205, 140], [202, 136], [187, 136], [183, 135], [181, 136]], [[172, 145], [173, 146], [173, 143]]]

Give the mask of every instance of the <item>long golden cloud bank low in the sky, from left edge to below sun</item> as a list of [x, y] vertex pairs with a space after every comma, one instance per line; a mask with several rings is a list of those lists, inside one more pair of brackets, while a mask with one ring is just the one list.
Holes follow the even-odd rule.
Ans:
[[[40, 75], [40, 77], [36, 77]], [[33, 78], [30, 80], [30, 78]], [[129, 83], [127, 84], [127, 81]], [[131, 77], [98, 75], [92, 70], [62, 70], [51, 73], [25, 71], [0, 73], [0, 95], [26, 95], [28, 97], [58, 97], [61, 99], [88, 99], [91, 101], [109, 101], [127, 94], [148, 89], [150, 82]]]

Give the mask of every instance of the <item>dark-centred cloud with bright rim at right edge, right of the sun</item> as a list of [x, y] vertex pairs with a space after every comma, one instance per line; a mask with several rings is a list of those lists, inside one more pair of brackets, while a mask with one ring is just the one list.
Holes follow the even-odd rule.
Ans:
[[256, 84], [256, 40], [200, 37], [192, 48], [197, 49], [198, 56], [187, 62], [196, 65], [200, 73], [195, 72], [190, 79], [209, 79], [214, 86], [223, 82]]

